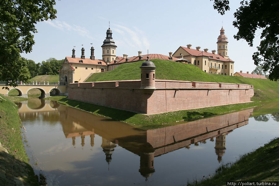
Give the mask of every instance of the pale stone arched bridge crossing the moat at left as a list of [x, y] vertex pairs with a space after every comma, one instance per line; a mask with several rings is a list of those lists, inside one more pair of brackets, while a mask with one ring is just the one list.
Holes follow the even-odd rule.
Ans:
[[55, 91], [56, 95], [67, 95], [66, 93], [66, 89], [67, 89], [67, 85], [62, 85], [59, 82], [58, 83], [49, 83], [47, 82], [47, 84], [45, 82], [43, 83], [31, 83], [31, 84], [18, 84], [17, 87], [9, 87], [10, 90], [6, 90], [6, 89], [2, 89], [2, 87], [5, 87], [5, 84], [0, 84], [0, 93], [3, 95], [8, 95], [9, 91], [11, 91], [12, 89], [16, 89], [19, 92], [20, 97], [23, 98], [28, 98], [28, 91], [33, 89], [33, 88], [37, 88], [41, 91], [41, 96], [40, 98], [47, 98], [50, 97], [50, 93], [52, 91]]

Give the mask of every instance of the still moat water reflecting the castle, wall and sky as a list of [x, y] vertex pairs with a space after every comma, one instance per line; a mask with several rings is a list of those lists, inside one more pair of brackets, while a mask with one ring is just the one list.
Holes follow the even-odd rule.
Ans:
[[29, 163], [46, 175], [48, 186], [183, 185], [212, 175], [279, 131], [278, 114], [261, 114], [263, 108], [142, 130], [54, 101], [17, 104]]

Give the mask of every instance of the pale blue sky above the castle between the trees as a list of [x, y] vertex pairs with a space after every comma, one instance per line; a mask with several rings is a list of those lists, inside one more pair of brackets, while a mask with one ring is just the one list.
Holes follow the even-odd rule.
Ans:
[[230, 11], [223, 16], [214, 10], [210, 0], [56, 1], [57, 18], [36, 24], [33, 50], [21, 56], [36, 63], [50, 57], [61, 60], [70, 57], [73, 48], [79, 57], [84, 47], [85, 57], [89, 58], [93, 46], [95, 58], [101, 59], [101, 45], [109, 26], [117, 46], [116, 56], [137, 56], [139, 50], [142, 55], [148, 50], [168, 56], [187, 44], [211, 52], [217, 51], [216, 42], [223, 26], [229, 42], [228, 56], [235, 61], [234, 72], [251, 73], [256, 67], [252, 55], [259, 46], [260, 32], [256, 32], [253, 47], [243, 39], [233, 38], [238, 31], [232, 25], [233, 13], [240, 1], [231, 0]]

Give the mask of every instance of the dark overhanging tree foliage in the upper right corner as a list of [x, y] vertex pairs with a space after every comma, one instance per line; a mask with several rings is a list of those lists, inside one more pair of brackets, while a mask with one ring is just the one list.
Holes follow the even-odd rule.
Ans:
[[[212, 1], [212, 0], [210, 0]], [[229, 0], [214, 0], [214, 9], [223, 15]], [[279, 1], [277, 0], [243, 0], [234, 13], [234, 27], [238, 29], [234, 38], [245, 39], [253, 46], [255, 33], [261, 31], [261, 42], [254, 52], [253, 60], [256, 66], [269, 70], [269, 79], [279, 79]]]

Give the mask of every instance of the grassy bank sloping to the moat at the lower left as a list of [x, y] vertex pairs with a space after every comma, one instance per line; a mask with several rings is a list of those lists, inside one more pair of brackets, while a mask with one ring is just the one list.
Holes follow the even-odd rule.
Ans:
[[[7, 149], [8, 154], [5, 154], [2, 161], [4, 160], [4, 167], [1, 168], [3, 174], [1, 174], [1, 183], [6, 183], [6, 181], [11, 181], [9, 178], [17, 177], [17, 175], [10, 175], [11, 173], [18, 173], [14, 169], [23, 170], [23, 172], [28, 173], [27, 177], [23, 177], [22, 183], [24, 185], [38, 185], [38, 178], [34, 175], [32, 167], [28, 164], [28, 157], [25, 152], [23, 142], [21, 140], [21, 129], [20, 118], [17, 113], [17, 106], [11, 102], [6, 96], [0, 94], [0, 142], [2, 147]], [[14, 161], [6, 161], [7, 159], [14, 159]], [[12, 164], [17, 162], [19, 167], [14, 167]], [[20, 163], [21, 162], [21, 163]], [[0, 164], [3, 166], [3, 163]], [[9, 167], [11, 166], [11, 167]], [[8, 179], [8, 180], [6, 180]]]

